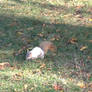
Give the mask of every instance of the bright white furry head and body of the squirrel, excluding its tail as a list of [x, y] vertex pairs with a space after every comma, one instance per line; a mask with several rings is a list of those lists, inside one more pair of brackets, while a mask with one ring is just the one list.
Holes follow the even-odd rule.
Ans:
[[26, 59], [37, 59], [37, 58], [44, 58], [44, 51], [40, 47], [35, 47], [31, 51], [27, 52]]

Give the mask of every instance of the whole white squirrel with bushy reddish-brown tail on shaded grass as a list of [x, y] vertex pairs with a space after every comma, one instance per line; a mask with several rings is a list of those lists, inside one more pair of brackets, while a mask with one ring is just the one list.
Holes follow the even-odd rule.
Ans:
[[33, 60], [37, 58], [43, 59], [48, 51], [55, 52], [56, 49], [56, 46], [51, 41], [42, 41], [39, 47], [35, 47], [31, 51], [27, 52], [26, 60]]

